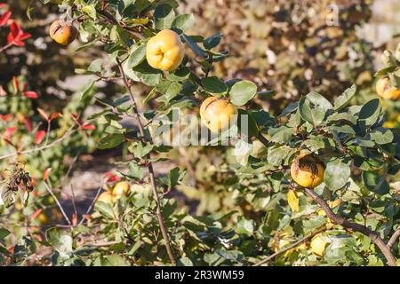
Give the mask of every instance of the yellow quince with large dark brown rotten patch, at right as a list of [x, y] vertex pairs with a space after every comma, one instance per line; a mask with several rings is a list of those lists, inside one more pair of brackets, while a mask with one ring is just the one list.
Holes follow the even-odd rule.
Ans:
[[301, 154], [291, 165], [292, 179], [303, 187], [314, 188], [324, 181], [324, 163], [308, 154]]

